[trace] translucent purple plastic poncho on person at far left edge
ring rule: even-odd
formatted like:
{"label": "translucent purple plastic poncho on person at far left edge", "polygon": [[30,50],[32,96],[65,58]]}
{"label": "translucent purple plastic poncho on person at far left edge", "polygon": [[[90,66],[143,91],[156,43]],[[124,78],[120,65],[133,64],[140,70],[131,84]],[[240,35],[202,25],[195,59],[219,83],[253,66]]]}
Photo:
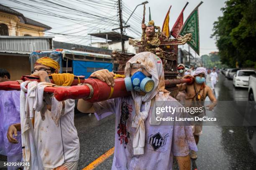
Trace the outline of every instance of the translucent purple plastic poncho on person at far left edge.
{"label": "translucent purple plastic poncho on person at far left edge", "polygon": [[20,91],[0,90],[0,154],[13,156],[22,154],[21,134],[15,137],[18,144],[9,143],[6,135],[10,125],[20,122]]}

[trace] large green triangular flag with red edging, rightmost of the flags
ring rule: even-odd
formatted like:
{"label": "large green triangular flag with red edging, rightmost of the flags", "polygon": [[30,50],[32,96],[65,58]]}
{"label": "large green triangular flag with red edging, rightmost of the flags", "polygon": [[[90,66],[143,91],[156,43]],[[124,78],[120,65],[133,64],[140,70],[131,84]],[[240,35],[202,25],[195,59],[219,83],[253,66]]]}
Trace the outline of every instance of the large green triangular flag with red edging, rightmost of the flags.
{"label": "large green triangular flag with red edging, rightmost of the flags", "polygon": [[179,35],[184,36],[185,34],[191,33],[192,38],[187,44],[195,50],[195,52],[199,55],[199,20],[198,20],[198,7],[202,4],[201,1],[199,5],[192,11],[192,13],[187,18],[186,22],[183,24]]}

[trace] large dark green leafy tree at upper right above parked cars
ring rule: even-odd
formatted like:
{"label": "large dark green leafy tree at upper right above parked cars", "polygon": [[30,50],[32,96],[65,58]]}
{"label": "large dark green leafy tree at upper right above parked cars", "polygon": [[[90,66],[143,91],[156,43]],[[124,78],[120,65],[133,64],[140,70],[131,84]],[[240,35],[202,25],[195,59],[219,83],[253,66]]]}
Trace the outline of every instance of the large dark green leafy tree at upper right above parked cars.
{"label": "large dark green leafy tree at upper right above parked cars", "polygon": [[255,9],[256,0],[228,0],[221,8],[223,16],[213,24],[211,37],[216,39],[223,64],[235,67],[238,62],[242,67],[256,63]]}

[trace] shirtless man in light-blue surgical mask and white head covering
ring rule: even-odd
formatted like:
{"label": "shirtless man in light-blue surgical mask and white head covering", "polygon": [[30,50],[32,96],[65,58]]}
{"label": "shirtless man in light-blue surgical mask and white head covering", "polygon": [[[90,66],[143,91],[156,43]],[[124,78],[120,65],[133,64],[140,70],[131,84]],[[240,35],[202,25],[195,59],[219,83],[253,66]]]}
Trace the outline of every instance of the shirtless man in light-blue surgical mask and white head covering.
{"label": "shirtless man in light-blue surgical mask and white head covering", "polygon": [[[192,77],[191,75],[185,75],[183,78]],[[207,105],[208,110],[213,110],[215,105],[217,105],[217,100],[212,93],[212,90],[209,86],[205,85],[205,77],[206,77],[206,70],[204,67],[198,67],[195,70],[193,75],[195,81],[189,85],[187,83],[177,85],[179,87],[179,91],[185,90],[186,92],[186,103],[196,103],[197,101],[201,101],[202,104],[205,101],[205,98],[208,96],[212,101],[212,104]],[[200,106],[198,106],[200,107]],[[196,144],[199,142],[199,136],[202,135],[202,125],[193,126],[193,135],[195,138]],[[190,157],[192,159],[197,158],[197,154],[195,151],[191,151]]]}

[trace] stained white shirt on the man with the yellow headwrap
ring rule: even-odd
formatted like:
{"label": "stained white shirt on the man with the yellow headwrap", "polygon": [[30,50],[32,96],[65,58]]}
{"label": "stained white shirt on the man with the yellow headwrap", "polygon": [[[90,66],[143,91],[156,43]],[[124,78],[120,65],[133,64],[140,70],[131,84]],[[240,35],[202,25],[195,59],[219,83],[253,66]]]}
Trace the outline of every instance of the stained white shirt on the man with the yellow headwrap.
{"label": "stained white shirt on the man with the yellow headwrap", "polygon": [[58,125],[47,110],[42,120],[35,112],[35,137],[45,168],[56,168],[79,159],[79,138],[74,126],[74,100],[65,100]]}

